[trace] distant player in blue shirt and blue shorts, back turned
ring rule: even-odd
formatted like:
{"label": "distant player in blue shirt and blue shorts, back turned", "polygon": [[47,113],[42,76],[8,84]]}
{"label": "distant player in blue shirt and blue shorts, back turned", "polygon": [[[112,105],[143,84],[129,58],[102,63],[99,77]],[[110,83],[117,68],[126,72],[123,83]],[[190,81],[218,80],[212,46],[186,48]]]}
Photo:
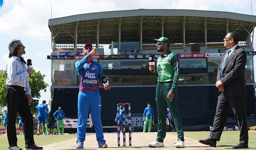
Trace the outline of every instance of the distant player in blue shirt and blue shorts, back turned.
{"label": "distant player in blue shirt and blue shorts, back turned", "polygon": [[38,115],[37,115],[37,123],[38,123],[38,125],[37,125],[37,135],[39,136],[40,135],[40,125],[41,125],[41,123],[43,123],[43,125],[42,126],[44,126],[44,130],[43,130],[43,135],[46,135],[45,134],[45,111],[49,111],[49,109],[48,109],[48,104],[46,104],[45,105],[45,103],[46,103],[46,101],[45,100],[43,100],[42,101],[42,104],[38,104],[37,105],[37,111],[38,111]]}

